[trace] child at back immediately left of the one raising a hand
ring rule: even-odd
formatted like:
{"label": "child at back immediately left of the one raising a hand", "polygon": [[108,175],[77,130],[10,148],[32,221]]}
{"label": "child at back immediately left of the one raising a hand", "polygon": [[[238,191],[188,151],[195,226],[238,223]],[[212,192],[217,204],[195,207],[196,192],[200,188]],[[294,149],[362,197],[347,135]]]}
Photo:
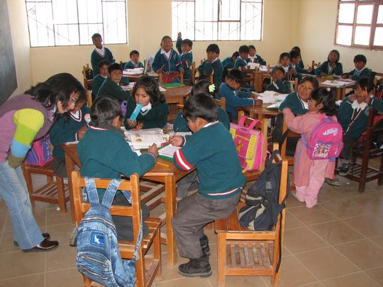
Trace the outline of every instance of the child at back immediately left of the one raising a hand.
{"label": "child at back immediately left of the one raising a hand", "polygon": [[182,60],[174,49],[170,36],[164,36],[161,40],[161,49],[155,54],[152,70],[157,74],[170,72],[184,72]]}

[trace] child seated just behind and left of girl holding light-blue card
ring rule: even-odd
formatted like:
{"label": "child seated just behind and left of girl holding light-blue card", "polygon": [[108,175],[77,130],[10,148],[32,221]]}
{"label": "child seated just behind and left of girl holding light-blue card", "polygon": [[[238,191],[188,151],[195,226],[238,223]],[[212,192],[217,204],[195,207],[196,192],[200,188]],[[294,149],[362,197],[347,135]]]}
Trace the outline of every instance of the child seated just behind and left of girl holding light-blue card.
{"label": "child seated just behind and left of girl holding light-blue card", "polygon": [[131,97],[129,91],[124,91],[119,85],[122,79],[122,69],[120,64],[114,63],[108,67],[108,77],[102,83],[96,98],[99,96],[113,96],[118,101],[128,100]]}

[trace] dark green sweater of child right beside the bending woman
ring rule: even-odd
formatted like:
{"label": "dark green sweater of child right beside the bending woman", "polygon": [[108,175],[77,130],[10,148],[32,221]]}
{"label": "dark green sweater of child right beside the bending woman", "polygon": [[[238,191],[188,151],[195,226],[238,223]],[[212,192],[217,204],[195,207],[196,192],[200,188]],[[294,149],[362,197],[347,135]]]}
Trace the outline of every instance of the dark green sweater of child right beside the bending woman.
{"label": "dark green sweater of child right beside the bending woman", "polygon": [[67,113],[67,115],[62,115],[57,118],[49,131],[50,142],[53,145],[53,157],[63,159],[65,152],[60,145],[65,142],[79,140],[77,132],[84,125],[89,126],[90,120],[90,108],[87,106],[83,106],[79,110],[79,118],[75,118],[72,113]]}

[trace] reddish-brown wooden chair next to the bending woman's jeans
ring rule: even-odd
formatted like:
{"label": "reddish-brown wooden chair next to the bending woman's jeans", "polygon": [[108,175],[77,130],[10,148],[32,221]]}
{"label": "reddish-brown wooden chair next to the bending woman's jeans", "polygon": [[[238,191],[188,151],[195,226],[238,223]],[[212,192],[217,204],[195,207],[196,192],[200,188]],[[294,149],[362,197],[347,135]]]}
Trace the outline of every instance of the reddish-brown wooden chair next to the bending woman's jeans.
{"label": "reddish-brown wooden chair next to the bending woman's jeans", "polygon": [[[37,167],[23,162],[22,167],[32,205],[34,206],[35,201],[58,204],[60,212],[66,213],[67,201],[70,200],[69,189],[67,184],[64,184],[62,177],[57,176],[55,171],[53,171],[52,162],[48,162],[43,165],[43,167]],[[32,174],[43,174],[47,176],[47,183],[34,191]],[[53,181],[54,177],[56,178],[55,181]]]}

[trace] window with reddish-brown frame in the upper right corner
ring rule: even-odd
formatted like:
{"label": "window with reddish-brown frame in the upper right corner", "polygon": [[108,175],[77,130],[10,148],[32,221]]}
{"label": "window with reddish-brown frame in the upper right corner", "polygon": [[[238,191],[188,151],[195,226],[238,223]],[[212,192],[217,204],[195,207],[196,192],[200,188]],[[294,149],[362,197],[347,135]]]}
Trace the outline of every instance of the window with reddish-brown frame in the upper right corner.
{"label": "window with reddish-brown frame in the upper right corner", "polygon": [[383,0],[340,0],[335,44],[383,50]]}

